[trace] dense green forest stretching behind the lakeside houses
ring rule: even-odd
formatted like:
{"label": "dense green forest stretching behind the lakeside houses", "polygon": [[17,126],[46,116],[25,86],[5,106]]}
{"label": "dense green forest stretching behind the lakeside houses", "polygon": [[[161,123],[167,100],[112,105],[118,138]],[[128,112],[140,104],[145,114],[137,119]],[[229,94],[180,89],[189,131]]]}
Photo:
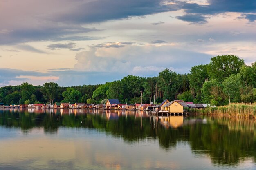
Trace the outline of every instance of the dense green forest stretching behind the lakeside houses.
{"label": "dense green forest stretching behind the lakeside houses", "polygon": [[34,86],[27,82],[0,88],[0,103],[105,103],[119,99],[124,104],[161,103],[164,99],[210,103],[256,101],[256,62],[245,65],[235,55],[212,57],[209,64],[193,66],[188,74],[165,69],[155,77],[128,75],[105,84],[60,87],[55,82]]}

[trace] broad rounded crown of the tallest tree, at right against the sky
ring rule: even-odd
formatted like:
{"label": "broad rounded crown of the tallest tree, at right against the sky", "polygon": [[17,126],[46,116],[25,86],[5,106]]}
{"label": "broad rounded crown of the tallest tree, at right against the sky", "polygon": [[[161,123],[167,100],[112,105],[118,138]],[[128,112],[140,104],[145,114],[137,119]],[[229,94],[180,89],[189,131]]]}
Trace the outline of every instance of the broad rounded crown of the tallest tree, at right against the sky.
{"label": "broad rounded crown of the tallest tree, at right against the sky", "polygon": [[223,82],[223,80],[231,74],[239,73],[240,68],[244,64],[244,60],[235,55],[216,56],[211,58],[210,64],[207,67],[207,72],[211,79]]}

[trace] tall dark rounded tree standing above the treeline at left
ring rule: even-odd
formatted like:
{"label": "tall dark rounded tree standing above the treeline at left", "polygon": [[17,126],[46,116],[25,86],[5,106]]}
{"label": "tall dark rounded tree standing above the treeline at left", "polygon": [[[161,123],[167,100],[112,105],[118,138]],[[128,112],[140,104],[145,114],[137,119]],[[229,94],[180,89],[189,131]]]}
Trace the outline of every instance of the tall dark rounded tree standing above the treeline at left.
{"label": "tall dark rounded tree standing above the treeline at left", "polygon": [[60,96],[60,87],[54,82],[45,83],[41,88],[41,91],[45,99],[52,104],[53,101]]}

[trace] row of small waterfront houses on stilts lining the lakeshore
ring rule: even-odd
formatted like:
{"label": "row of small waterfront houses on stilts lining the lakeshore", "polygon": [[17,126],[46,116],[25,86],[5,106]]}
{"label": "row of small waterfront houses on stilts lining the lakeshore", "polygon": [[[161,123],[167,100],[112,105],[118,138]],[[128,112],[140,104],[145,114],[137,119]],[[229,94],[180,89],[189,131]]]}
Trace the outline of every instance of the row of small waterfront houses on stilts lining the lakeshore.
{"label": "row of small waterfront houses on stilts lining the lakeshore", "polygon": [[4,105],[0,103],[0,108],[27,108],[27,109],[99,109],[99,110],[139,110],[148,111],[152,115],[162,115],[177,114],[182,115],[183,113],[188,113],[188,108],[193,109],[205,109],[207,107],[215,107],[210,104],[194,104],[193,102],[186,102],[183,100],[164,100],[161,104],[121,104],[118,99],[107,99],[105,104],[86,104],[86,103],[60,103],[56,102],[54,104],[20,104],[20,105]]}

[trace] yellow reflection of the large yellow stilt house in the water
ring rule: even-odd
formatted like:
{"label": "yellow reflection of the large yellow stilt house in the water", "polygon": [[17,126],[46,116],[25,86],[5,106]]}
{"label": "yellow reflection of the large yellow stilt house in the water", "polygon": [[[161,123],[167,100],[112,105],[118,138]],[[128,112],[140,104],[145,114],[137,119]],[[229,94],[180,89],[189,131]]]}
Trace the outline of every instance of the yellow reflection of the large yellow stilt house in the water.
{"label": "yellow reflection of the large yellow stilt house in the water", "polygon": [[183,125],[183,116],[159,116],[158,118],[165,128],[177,128]]}

